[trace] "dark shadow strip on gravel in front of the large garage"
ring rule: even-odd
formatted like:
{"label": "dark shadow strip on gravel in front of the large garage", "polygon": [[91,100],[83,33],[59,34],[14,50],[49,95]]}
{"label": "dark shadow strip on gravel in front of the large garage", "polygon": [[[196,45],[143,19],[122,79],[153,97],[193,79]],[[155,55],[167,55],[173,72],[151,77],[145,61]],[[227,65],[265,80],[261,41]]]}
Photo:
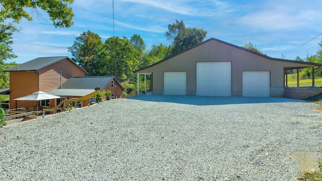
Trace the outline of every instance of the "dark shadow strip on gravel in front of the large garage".
{"label": "dark shadow strip on gravel in front of the large garage", "polygon": [[178,103],[197,106],[230,105],[230,104],[256,104],[256,103],[305,103],[303,100],[287,98],[261,98],[261,97],[207,97],[207,96],[150,96],[139,95],[127,99]]}

